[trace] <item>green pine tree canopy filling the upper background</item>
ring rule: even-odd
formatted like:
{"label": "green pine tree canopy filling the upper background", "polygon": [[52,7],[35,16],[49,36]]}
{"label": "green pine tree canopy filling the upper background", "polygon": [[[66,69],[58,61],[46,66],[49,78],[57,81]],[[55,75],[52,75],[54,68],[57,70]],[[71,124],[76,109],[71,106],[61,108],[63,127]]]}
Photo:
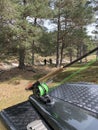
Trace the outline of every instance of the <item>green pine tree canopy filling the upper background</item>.
{"label": "green pine tree canopy filling the upper background", "polygon": [[[35,54],[56,55],[56,66],[65,56],[81,56],[91,43],[86,26],[92,22],[87,0],[1,0],[0,53],[17,55],[19,68]],[[48,20],[57,27],[49,32]]]}

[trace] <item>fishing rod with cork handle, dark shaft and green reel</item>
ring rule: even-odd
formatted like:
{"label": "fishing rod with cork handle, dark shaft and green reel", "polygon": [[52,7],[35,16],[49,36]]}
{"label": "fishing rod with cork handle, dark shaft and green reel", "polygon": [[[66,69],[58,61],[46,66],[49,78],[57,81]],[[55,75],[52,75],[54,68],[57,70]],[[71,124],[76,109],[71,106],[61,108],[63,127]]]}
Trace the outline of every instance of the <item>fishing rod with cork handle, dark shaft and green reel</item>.
{"label": "fishing rod with cork handle, dark shaft and green reel", "polygon": [[49,74],[43,76],[42,78],[38,79],[36,82],[29,84],[25,89],[26,90],[32,90],[33,94],[42,97],[44,95],[48,94],[48,86],[46,85],[46,81],[49,79],[52,79],[56,75],[58,75],[60,72],[62,72],[65,68],[73,65],[74,63],[82,60],[83,58],[87,57],[88,55],[92,54],[93,52],[97,51],[98,47],[94,48],[93,50],[89,51],[88,53],[84,54],[83,56],[73,60],[71,63],[64,65],[63,67],[50,72]]}

